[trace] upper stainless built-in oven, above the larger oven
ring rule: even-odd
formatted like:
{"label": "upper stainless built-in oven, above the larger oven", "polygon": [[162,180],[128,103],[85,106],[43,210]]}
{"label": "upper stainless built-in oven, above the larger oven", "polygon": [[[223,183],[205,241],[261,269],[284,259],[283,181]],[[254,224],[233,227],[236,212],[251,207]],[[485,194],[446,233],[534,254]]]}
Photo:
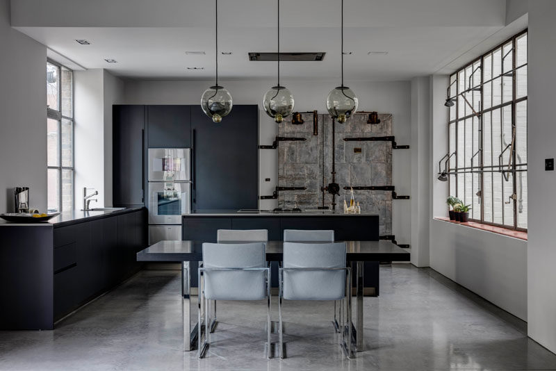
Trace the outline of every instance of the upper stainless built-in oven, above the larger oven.
{"label": "upper stainless built-in oven, above the larger oven", "polygon": [[149,148],[148,181],[190,181],[189,148]]}

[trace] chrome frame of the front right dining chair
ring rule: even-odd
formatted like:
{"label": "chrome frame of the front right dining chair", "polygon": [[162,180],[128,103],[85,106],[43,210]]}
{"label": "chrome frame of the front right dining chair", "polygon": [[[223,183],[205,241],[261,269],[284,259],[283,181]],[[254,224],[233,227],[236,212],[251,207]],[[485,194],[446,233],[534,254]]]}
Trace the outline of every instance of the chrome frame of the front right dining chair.
{"label": "chrome frame of the front right dining chair", "polygon": [[[341,333],[341,346],[345,356],[348,359],[351,359],[355,356],[355,353],[352,352],[352,295],[351,295],[351,268],[317,268],[317,267],[306,267],[306,268],[284,268],[280,267],[278,270],[278,281],[279,281],[279,294],[278,294],[278,316],[279,316],[279,324],[278,324],[278,343],[279,343],[279,352],[280,358],[284,359],[284,324],[282,322],[282,298],[284,297],[284,271],[334,271],[334,270],[345,270],[345,297],[341,300],[334,300],[334,327],[336,327],[336,302],[340,303],[340,327],[341,329],[338,332]],[[343,303],[342,303],[343,302]],[[345,304],[345,308],[342,310],[342,307]],[[345,311],[345,323],[343,323],[343,311]],[[346,339],[347,336],[347,339]]]}

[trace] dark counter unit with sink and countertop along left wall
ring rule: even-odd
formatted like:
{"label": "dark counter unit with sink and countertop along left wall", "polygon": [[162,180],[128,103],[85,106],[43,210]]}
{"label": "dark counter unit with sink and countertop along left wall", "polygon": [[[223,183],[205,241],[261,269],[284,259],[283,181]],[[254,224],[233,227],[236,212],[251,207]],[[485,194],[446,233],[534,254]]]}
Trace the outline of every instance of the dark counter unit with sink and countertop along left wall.
{"label": "dark counter unit with sink and countertop along left wall", "polygon": [[0,240],[0,329],[53,329],[56,320],[140,269],[135,254],[147,247],[147,210],[0,222]]}

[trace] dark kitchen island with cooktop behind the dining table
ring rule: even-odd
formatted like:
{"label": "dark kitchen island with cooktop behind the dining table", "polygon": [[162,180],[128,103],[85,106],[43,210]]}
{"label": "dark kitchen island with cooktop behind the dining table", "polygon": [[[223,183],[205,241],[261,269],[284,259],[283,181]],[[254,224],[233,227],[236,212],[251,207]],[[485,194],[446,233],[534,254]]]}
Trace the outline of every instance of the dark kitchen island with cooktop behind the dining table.
{"label": "dark kitchen island with cooktop behind the dining table", "polygon": [[[200,210],[182,215],[182,239],[216,242],[218,229],[267,229],[268,240],[282,240],[284,229],[333,229],[334,239],[379,240],[379,215],[344,214],[327,210],[258,211],[258,210]],[[272,286],[277,287],[278,263],[273,262]],[[196,270],[196,262],[192,262]],[[379,295],[379,262],[364,263],[366,295]],[[193,275],[192,286],[197,287]]]}

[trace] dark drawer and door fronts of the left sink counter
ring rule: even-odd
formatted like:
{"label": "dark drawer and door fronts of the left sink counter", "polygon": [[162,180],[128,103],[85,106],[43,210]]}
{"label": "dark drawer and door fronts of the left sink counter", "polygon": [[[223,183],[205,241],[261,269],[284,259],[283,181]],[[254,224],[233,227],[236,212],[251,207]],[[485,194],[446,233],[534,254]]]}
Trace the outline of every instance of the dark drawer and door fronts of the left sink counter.
{"label": "dark drawer and door fronts of the left sink counter", "polygon": [[54,227],[54,320],[140,269],[147,247],[145,209]]}

